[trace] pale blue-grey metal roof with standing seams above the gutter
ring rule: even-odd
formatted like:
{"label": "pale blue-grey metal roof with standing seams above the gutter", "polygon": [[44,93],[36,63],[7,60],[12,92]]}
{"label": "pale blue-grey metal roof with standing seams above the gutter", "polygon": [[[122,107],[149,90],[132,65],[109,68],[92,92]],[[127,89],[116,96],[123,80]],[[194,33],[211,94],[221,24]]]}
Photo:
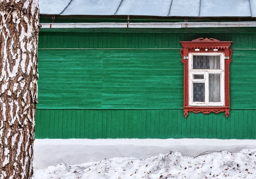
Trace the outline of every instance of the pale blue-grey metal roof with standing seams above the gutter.
{"label": "pale blue-grey metal roof with standing seams above the gutter", "polygon": [[41,14],[256,17],[256,0],[39,0]]}

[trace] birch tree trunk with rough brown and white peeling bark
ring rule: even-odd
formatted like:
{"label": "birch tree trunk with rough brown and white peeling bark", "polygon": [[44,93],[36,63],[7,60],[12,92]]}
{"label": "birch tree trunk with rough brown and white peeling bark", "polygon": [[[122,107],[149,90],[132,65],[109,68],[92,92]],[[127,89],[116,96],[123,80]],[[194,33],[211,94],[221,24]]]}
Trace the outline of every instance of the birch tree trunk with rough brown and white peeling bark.
{"label": "birch tree trunk with rough brown and white peeling bark", "polygon": [[0,0],[0,179],[31,179],[38,0]]}

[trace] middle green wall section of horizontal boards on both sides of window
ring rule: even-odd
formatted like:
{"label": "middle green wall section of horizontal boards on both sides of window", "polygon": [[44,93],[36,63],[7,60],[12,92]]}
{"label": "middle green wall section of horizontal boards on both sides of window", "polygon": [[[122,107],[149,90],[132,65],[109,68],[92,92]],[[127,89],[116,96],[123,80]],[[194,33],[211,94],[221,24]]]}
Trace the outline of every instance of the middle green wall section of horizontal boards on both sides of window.
{"label": "middle green wall section of horizontal boards on both sides of window", "polygon": [[[40,109],[182,109],[183,64],[175,49],[38,52]],[[231,109],[256,109],[256,50],[233,50]]]}

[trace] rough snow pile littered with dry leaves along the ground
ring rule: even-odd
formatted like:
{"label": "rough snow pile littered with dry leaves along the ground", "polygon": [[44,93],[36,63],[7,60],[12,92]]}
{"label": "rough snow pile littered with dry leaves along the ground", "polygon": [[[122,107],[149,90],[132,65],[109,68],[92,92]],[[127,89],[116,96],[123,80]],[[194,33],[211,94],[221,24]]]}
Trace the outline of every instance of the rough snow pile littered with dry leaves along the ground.
{"label": "rough snow pile littered with dry leaves along the ground", "polygon": [[34,179],[254,179],[256,149],[203,153],[188,157],[179,152],[145,159],[116,157],[80,165],[62,163],[35,170]]}

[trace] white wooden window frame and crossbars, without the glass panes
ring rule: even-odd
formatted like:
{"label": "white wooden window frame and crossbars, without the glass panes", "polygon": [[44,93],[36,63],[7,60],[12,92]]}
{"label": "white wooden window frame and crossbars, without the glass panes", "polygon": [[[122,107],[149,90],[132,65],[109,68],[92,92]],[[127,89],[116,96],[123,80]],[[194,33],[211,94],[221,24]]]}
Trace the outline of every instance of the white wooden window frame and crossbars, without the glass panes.
{"label": "white wooden window frame and crossbars, without the glass panes", "polygon": [[[192,56],[193,55],[219,55],[221,61],[221,69],[192,69]],[[224,66],[224,53],[189,53],[189,106],[224,106],[225,105],[225,66]],[[209,102],[209,73],[215,73],[221,75],[221,102]],[[193,74],[204,74],[204,79],[193,79]],[[205,83],[205,102],[193,102],[193,82],[204,82]]]}

